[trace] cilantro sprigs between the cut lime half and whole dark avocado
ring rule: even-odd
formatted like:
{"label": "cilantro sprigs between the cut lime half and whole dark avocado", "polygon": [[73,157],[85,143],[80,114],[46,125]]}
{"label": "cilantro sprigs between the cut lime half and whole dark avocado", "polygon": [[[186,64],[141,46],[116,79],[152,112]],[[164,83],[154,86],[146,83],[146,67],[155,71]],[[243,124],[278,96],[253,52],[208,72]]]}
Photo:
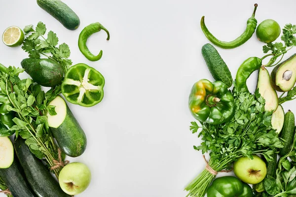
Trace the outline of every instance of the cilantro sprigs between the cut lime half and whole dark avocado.
{"label": "cilantro sprigs between the cut lime half and whole dark avocado", "polygon": [[[36,29],[33,25],[28,25],[24,28],[25,34],[31,33],[23,42],[22,49],[29,53],[30,58],[38,59],[40,54],[47,58],[56,61],[66,73],[72,65],[70,57],[70,49],[66,43],[60,44],[57,47],[59,38],[56,33],[49,31],[47,38],[43,35],[46,32],[46,27],[42,22],[38,22]],[[41,38],[41,39],[40,39]],[[49,55],[51,54],[51,56]]]}

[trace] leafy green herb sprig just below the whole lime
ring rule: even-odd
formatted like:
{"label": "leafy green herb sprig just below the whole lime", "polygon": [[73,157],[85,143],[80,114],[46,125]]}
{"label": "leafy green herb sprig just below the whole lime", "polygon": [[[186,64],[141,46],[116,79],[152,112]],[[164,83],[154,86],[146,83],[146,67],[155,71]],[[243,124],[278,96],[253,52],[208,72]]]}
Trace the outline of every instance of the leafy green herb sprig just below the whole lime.
{"label": "leafy green herb sprig just below the whole lime", "polygon": [[[281,36],[281,40],[284,42],[275,42],[275,43],[267,43],[263,46],[263,53],[268,53],[271,51],[270,54],[265,55],[262,60],[268,56],[273,56],[270,61],[265,65],[265,67],[275,66],[280,63],[284,57],[284,54],[287,53],[290,49],[296,46],[296,25],[292,25],[291,23],[286,24],[283,29],[283,35]],[[281,59],[275,63],[278,57]],[[275,63],[275,64],[274,64]]]}

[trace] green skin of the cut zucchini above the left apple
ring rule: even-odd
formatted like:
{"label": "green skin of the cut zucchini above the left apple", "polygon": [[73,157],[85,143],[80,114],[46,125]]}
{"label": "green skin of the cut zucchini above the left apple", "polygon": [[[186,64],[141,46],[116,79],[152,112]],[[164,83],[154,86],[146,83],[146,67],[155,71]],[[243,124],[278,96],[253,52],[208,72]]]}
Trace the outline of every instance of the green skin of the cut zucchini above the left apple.
{"label": "green skin of the cut zucchini above the left apple", "polygon": [[50,127],[50,131],[66,155],[78,157],[85,151],[87,139],[66,101],[65,104],[67,106],[67,114],[64,122],[58,128]]}

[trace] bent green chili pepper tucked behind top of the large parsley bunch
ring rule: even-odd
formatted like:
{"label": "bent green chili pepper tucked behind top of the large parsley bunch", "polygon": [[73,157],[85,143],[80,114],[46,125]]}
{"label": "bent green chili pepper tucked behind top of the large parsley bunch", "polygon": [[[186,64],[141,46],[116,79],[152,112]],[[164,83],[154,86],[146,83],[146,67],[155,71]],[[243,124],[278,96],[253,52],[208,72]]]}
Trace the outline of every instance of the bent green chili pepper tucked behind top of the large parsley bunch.
{"label": "bent green chili pepper tucked behind top of the large parsley bunch", "polygon": [[248,58],[239,66],[236,73],[236,86],[240,92],[249,92],[247,87],[247,79],[250,75],[262,66],[262,60],[257,57]]}

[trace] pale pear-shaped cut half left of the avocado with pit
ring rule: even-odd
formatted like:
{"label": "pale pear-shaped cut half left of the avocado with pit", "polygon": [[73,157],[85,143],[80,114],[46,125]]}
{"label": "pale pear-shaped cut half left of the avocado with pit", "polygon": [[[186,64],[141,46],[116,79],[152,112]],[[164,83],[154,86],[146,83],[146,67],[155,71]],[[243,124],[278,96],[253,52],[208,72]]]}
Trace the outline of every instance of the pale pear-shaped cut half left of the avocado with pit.
{"label": "pale pear-shaped cut half left of the avocado with pit", "polygon": [[278,97],[270,84],[269,72],[263,66],[259,69],[257,88],[260,95],[265,99],[265,111],[275,111],[278,107]]}

